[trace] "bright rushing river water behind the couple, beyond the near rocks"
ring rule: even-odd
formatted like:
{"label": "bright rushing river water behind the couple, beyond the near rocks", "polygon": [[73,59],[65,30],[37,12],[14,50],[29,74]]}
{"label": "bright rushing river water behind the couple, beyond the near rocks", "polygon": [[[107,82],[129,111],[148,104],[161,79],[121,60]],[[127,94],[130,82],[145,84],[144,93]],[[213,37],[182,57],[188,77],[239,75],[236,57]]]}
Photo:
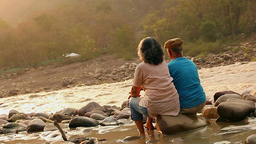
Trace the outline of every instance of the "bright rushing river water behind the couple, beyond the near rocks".
{"label": "bright rushing river water behind the couple, beyond the near rocks", "polygon": [[[238,62],[227,66],[204,68],[198,70],[198,73],[208,99],[216,92],[224,90],[242,93],[256,89],[256,62]],[[67,107],[78,109],[92,101],[102,106],[121,106],[122,102],[127,100],[131,86],[132,80],[128,80],[2,98],[0,114],[8,114],[13,109],[24,113],[55,113]],[[144,92],[141,95],[143,96]]]}

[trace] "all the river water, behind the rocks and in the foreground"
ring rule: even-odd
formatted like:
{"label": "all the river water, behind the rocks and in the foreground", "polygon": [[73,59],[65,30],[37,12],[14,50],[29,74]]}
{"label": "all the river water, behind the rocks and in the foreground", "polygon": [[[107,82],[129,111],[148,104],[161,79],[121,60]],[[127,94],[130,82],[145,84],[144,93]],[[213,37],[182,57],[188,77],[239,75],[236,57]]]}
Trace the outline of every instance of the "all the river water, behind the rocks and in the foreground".
{"label": "all the river water, behind the rocks and in the foreground", "polygon": [[[242,93],[246,90],[256,89],[256,62],[240,62],[233,65],[205,68],[198,70],[201,84],[206,92],[207,99],[212,99],[216,92],[232,90]],[[132,80],[112,84],[74,87],[53,92],[40,92],[37,94],[24,94],[0,99],[0,114],[8,114],[10,110],[19,112],[45,112],[55,113],[67,107],[81,108],[89,102],[98,102],[103,105],[121,106],[127,100],[132,86]],[[143,96],[143,92],[141,93]],[[136,126],[131,124],[106,127],[100,132],[98,127],[90,132],[77,133],[76,130],[67,129],[69,139],[76,137],[106,138],[99,142],[102,144],[169,144],[174,138],[182,138],[178,144],[243,144],[248,136],[256,133],[256,119],[248,118],[241,122],[217,124],[209,120],[210,125],[197,130],[172,135],[157,134],[156,130],[146,130],[146,137],[129,142],[121,142],[126,136],[138,136]],[[42,132],[28,134],[0,135],[0,144],[43,144],[47,138],[41,136]],[[56,139],[61,139],[58,137]],[[174,142],[177,143],[177,142]]]}

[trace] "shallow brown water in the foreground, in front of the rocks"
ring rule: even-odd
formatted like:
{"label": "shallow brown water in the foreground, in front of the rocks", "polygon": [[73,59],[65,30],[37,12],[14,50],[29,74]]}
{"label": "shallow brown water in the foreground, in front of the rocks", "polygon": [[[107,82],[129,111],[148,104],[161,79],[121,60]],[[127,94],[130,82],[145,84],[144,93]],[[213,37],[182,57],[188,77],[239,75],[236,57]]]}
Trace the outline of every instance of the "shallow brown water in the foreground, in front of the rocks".
{"label": "shallow brown water in the foreground, in front of the rocks", "polygon": [[[210,125],[197,130],[182,132],[179,134],[162,135],[157,134],[156,130],[146,130],[146,137],[127,142],[121,142],[126,136],[138,136],[138,131],[134,125],[116,126],[108,129],[109,132],[99,133],[101,128],[92,128],[90,132],[77,133],[76,130],[65,129],[68,132],[68,139],[78,137],[96,137],[107,140],[99,142],[99,144],[170,144],[172,141],[178,144],[243,144],[246,138],[256,133],[254,129],[246,129],[255,127],[256,123],[247,124],[246,122],[234,122],[225,125],[218,125],[215,120],[209,120]],[[235,129],[234,127],[237,126]],[[99,126],[100,127],[100,126]],[[54,138],[52,138],[54,139]],[[55,138],[60,140],[61,137]],[[180,140],[184,140],[180,142]],[[48,139],[50,140],[50,139]],[[40,136],[40,133],[1,135],[0,142],[4,144],[42,144],[45,138]],[[0,143],[1,144],[1,143]]]}

